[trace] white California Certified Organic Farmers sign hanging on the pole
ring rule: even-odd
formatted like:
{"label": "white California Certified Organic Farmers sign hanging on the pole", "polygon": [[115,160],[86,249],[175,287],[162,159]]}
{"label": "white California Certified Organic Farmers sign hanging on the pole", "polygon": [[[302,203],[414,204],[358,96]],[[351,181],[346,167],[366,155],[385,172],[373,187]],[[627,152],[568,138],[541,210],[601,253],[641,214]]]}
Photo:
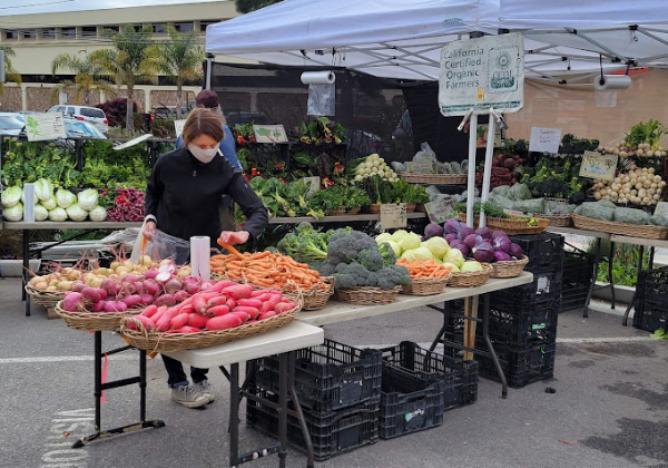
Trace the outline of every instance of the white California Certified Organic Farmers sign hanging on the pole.
{"label": "white California Certified Organic Farmers sign hanging on the pole", "polygon": [[517,113],[524,104],[524,41],[519,33],[449,42],[441,49],[439,107],[444,116],[471,108]]}

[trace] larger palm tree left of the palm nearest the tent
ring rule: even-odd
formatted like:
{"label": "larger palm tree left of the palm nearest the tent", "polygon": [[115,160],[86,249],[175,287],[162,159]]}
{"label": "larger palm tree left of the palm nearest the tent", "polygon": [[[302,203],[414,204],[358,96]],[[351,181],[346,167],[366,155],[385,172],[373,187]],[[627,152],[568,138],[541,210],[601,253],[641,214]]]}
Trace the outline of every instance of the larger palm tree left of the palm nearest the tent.
{"label": "larger palm tree left of the palm nearest the tent", "polygon": [[159,47],[151,39],[150,25],[144,25],[140,30],[136,30],[132,25],[126,25],[120,32],[105,32],[110,36],[114,48],[96,50],[90,53],[90,59],[105,74],[112,76],[117,85],[127,87],[126,128],[134,130],[135,85],[141,81],[157,81]]}

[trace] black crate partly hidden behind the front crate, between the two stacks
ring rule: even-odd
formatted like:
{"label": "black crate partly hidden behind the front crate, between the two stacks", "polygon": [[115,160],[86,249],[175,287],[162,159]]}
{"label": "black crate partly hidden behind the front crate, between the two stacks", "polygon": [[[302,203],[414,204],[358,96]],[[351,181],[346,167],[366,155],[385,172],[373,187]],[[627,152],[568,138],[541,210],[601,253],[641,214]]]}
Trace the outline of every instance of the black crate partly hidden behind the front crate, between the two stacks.
{"label": "black crate partly hidden behind the front crate, between the two stacks", "polygon": [[478,400],[478,362],[429,351],[412,341],[402,341],[382,351],[383,360],[392,367],[442,380],[443,409]]}

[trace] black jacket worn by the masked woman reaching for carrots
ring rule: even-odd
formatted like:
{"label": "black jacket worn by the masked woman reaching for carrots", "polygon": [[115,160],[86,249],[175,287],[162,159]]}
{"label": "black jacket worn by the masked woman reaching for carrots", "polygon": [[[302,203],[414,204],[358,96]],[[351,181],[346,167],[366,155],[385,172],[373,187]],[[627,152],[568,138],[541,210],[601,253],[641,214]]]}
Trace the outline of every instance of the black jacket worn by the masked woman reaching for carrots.
{"label": "black jacket worn by the masked woman reaching for carrots", "polygon": [[268,223],[267,208],[242,173],[220,156],[203,164],[187,148],[161,155],[148,178],[145,211],[169,235],[186,241],[208,235],[215,245],[222,231],[218,205],[223,195],[242,207],[248,218],[244,231],[257,237]]}

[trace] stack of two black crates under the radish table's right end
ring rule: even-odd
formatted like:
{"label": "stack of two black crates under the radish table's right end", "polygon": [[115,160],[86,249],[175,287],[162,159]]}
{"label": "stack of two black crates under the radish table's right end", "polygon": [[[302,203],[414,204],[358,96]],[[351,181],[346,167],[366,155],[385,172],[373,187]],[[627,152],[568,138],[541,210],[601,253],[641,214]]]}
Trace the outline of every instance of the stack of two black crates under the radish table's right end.
{"label": "stack of two black crates under the radish table's right end", "polygon": [[[278,357],[252,361],[250,393],[278,401]],[[332,340],[296,351],[295,389],[313,442],[316,460],[353,450],[379,438],[382,353]],[[294,409],[292,402],[289,408]],[[247,423],[271,436],[278,433],[278,416],[268,404],[247,399]],[[287,436],[297,449],[306,441],[298,420],[288,415]]]}

